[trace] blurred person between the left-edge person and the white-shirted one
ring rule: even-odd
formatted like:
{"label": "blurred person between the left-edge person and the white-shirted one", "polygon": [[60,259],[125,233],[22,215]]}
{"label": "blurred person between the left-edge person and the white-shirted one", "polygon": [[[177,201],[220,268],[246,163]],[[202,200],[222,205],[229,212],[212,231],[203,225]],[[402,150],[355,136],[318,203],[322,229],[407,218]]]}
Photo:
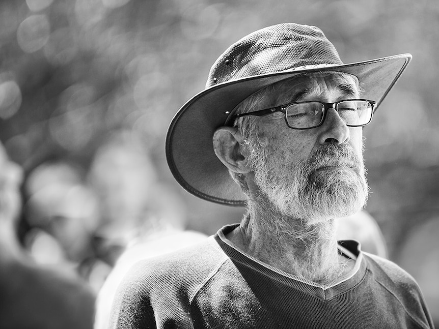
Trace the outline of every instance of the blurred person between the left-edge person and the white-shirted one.
{"label": "blurred person between the left-edge person and the white-shirted one", "polygon": [[45,161],[24,182],[23,244],[39,264],[79,275],[97,292],[114,263],[97,248],[100,204],[79,165]]}

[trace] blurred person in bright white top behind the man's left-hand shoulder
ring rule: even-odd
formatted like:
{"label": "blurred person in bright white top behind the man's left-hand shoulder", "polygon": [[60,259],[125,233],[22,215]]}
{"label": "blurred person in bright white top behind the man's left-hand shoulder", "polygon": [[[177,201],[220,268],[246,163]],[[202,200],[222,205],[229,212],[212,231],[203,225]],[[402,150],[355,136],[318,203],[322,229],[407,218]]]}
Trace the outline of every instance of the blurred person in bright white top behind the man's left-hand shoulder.
{"label": "blurred person in bright white top behind the man's left-hand shoulder", "polygon": [[94,328],[106,329],[117,288],[134,263],[193,245],[206,235],[186,230],[184,204],[156,181],[153,164],[132,132],[107,138],[88,176],[101,206],[98,254],[115,265],[96,300]]}

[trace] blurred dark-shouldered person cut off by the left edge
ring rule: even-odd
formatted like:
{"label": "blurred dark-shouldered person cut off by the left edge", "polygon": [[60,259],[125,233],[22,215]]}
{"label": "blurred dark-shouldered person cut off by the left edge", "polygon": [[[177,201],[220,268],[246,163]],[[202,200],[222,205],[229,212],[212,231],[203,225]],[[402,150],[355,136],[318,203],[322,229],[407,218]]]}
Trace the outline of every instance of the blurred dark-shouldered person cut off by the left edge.
{"label": "blurred dark-shouldered person cut off by the left edge", "polygon": [[0,149],[0,328],[87,329],[95,294],[78,276],[37,264],[17,239],[22,171]]}

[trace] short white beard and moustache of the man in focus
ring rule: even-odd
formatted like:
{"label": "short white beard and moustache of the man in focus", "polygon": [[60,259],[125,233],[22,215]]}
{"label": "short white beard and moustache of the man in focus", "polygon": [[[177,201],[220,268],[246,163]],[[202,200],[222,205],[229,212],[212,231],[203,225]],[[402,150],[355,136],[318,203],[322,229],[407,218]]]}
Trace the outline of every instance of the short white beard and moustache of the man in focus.
{"label": "short white beard and moustache of the man in focus", "polygon": [[[276,157],[266,154],[256,138],[248,140],[248,146],[255,184],[283,216],[312,225],[359,212],[366,203],[368,186],[363,156],[346,144],[322,146],[295,167],[275,163]],[[332,167],[318,170],[327,166]],[[256,201],[255,197],[250,196],[250,200]]]}

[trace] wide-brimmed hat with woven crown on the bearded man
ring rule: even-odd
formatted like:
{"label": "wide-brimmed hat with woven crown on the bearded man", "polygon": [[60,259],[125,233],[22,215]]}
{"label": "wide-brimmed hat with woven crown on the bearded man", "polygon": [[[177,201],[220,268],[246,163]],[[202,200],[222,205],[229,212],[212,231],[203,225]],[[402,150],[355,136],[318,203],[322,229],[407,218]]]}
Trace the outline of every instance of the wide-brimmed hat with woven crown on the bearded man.
{"label": "wide-brimmed hat with woven crown on the bearded man", "polygon": [[410,54],[343,64],[334,45],[315,26],[294,23],[262,28],[230,46],[213,64],[206,88],[188,100],[168,129],[166,157],[177,182],[205,200],[244,205],[245,195],[218,160],[214,131],[242,100],[270,84],[306,72],[356,76],[361,97],[386,97],[411,59]]}

